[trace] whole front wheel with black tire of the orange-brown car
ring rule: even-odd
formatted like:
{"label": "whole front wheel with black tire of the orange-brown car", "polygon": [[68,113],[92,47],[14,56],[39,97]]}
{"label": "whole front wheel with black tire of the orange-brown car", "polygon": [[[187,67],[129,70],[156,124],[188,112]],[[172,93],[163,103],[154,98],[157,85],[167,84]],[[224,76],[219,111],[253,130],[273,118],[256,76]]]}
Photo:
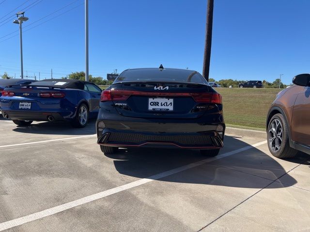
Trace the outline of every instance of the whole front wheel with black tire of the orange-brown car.
{"label": "whole front wheel with black tire of the orange-brown car", "polygon": [[268,123],[267,143],[270,153],[280,159],[293,158],[298,152],[290,147],[288,125],[281,114],[274,115]]}

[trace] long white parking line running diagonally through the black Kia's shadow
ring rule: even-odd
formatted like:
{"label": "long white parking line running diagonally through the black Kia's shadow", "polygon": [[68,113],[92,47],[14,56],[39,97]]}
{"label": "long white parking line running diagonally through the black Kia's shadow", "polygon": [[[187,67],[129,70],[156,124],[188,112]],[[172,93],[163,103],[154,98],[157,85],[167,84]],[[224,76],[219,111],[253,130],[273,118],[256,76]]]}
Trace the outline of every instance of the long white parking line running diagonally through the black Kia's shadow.
{"label": "long white parking line running diagonally through the black Kia's shadow", "polygon": [[13,219],[13,220],[10,220],[10,221],[2,222],[2,223],[0,223],[0,231],[4,231],[4,230],[10,229],[10,228],[13,228],[13,227],[25,224],[27,222],[31,222],[31,221],[34,221],[34,220],[37,220],[37,219],[40,219],[40,218],[43,218],[43,217],[47,217],[47,216],[50,216],[50,215],[53,215],[53,214],[57,214],[57,213],[62,212],[64,210],[74,208],[74,207],[76,207],[78,205],[89,203],[89,202],[92,202],[92,201],[95,201],[95,200],[107,197],[107,196],[112,195],[114,193],[118,193],[118,192],[124,191],[126,189],[130,189],[130,188],[134,188],[134,187],[146,184],[148,182],[151,182],[153,180],[158,180],[160,178],[163,178],[163,177],[166,177],[166,176],[169,176],[169,175],[172,175],[172,174],[176,174],[176,173],[185,171],[185,170],[190,169],[190,168],[194,168],[194,167],[200,166],[202,164],[205,164],[206,162],[211,162],[213,160],[218,160],[218,159],[221,159],[221,158],[225,158],[225,157],[231,156],[233,154],[236,154],[236,153],[239,153],[239,152],[242,152],[242,151],[246,151],[248,149],[251,149],[253,147],[257,147],[257,146],[260,146],[260,145],[263,145],[263,144],[266,144],[266,143],[267,143],[267,141],[263,141],[263,142],[260,142],[260,143],[254,144],[254,145],[249,145],[249,146],[246,146],[246,147],[242,147],[240,149],[237,149],[237,150],[234,150],[234,151],[231,151],[231,152],[227,152],[227,153],[218,155],[216,157],[212,157],[212,158],[205,159],[205,160],[202,160],[202,161],[190,163],[190,164],[187,164],[187,165],[179,167],[179,168],[171,169],[171,170],[163,172],[163,173],[152,175],[152,176],[150,176],[148,178],[140,179],[140,180],[137,180],[137,181],[134,181],[134,182],[131,182],[131,183],[128,183],[128,184],[116,187],[116,188],[111,188],[111,189],[108,189],[108,190],[105,190],[105,191],[102,191],[102,192],[98,192],[98,193],[95,193],[93,195],[90,195],[90,196],[87,196],[87,197],[83,197],[83,198],[80,198],[80,199],[72,201],[72,202],[64,203],[64,204],[61,204],[61,205],[58,205],[58,206],[55,206],[55,207],[52,207],[52,208],[49,208],[49,209],[46,209],[46,210],[42,210],[42,211],[37,212],[37,213],[33,213],[33,214],[30,214],[30,215],[27,215],[27,216],[24,216],[24,217],[18,217],[16,219]]}

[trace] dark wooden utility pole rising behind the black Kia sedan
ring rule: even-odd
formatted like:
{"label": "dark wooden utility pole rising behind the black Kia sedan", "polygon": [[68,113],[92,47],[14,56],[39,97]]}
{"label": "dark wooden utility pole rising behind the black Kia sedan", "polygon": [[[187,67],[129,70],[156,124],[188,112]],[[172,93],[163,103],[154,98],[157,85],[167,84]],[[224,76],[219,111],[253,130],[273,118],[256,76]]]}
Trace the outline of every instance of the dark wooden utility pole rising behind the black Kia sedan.
{"label": "dark wooden utility pole rising behind the black Kia sedan", "polygon": [[202,75],[209,81],[214,0],[208,0]]}

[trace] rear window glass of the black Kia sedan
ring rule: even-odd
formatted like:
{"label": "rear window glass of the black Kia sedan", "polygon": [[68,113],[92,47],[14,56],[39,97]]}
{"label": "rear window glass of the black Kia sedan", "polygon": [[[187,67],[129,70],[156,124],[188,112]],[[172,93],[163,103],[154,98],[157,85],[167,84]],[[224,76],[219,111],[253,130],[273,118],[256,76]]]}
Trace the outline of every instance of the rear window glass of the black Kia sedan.
{"label": "rear window glass of the black Kia sedan", "polygon": [[179,69],[131,69],[121,73],[114,81],[119,82],[143,82],[143,81],[164,81],[164,82],[191,82],[207,85],[208,82],[203,76],[191,70]]}

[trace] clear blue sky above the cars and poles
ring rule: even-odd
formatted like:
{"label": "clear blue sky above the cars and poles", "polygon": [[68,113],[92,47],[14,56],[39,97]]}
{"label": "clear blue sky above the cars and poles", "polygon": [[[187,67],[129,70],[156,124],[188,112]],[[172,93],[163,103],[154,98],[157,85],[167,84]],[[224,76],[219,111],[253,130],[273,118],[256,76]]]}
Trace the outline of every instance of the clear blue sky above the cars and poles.
{"label": "clear blue sky above the cars and poles", "polygon": [[[289,84],[294,75],[309,73],[309,0],[214,1],[210,77],[273,81],[284,74],[282,80]],[[10,16],[25,7],[25,74],[50,78],[53,69],[56,78],[84,71],[83,2],[0,4],[0,74],[20,73],[18,25]],[[89,0],[90,74],[106,77],[114,69],[161,63],[202,73],[205,17],[206,0]]]}

